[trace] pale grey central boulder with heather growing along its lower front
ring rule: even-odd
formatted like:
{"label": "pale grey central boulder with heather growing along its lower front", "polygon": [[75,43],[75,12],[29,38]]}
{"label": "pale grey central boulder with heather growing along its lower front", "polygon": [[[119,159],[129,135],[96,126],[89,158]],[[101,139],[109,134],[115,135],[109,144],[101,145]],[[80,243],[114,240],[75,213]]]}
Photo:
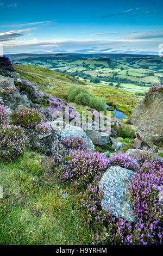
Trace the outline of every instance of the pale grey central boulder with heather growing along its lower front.
{"label": "pale grey central boulder with heather growing along its lower front", "polygon": [[81,127],[69,125],[64,121],[58,120],[48,121],[47,123],[52,126],[52,134],[54,134],[55,136],[57,135],[58,139],[62,140],[65,138],[70,138],[72,136],[80,137],[85,140],[87,148],[89,148],[90,150],[93,150],[95,148],[95,145],[93,145],[93,142],[86,135]]}

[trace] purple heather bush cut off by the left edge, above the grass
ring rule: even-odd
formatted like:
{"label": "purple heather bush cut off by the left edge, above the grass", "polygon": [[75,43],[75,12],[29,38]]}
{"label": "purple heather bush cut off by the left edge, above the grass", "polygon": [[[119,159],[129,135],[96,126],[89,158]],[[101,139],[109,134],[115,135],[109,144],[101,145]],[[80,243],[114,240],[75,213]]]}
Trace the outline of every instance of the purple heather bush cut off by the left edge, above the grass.
{"label": "purple heather bush cut off by the left edge, above the grass", "polygon": [[20,126],[3,124],[0,126],[0,159],[15,160],[26,151],[27,137]]}

